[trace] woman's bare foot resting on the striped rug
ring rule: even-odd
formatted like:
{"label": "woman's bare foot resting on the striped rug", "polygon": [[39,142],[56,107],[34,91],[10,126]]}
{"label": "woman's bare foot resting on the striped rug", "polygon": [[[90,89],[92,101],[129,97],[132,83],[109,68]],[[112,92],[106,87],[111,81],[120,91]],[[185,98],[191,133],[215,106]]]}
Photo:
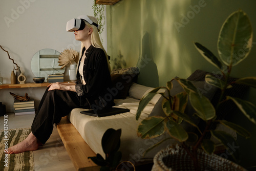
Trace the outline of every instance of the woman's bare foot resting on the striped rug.
{"label": "woman's bare foot resting on the striped rug", "polygon": [[17,154],[17,153],[23,153],[27,151],[35,151],[40,145],[42,144],[37,140],[37,138],[31,132],[24,141],[12,147],[9,147],[6,153]]}

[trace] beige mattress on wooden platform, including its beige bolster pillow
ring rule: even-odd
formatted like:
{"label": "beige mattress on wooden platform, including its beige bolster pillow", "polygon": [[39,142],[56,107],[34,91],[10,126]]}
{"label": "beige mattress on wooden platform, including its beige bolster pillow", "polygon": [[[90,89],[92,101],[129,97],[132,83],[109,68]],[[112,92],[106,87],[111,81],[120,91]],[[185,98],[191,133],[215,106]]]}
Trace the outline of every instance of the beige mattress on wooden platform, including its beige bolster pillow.
{"label": "beige mattress on wooden platform, including its beige bolster pillow", "polygon": [[84,141],[87,142],[96,154],[99,153],[103,157],[105,156],[101,147],[101,138],[106,130],[113,128],[115,130],[121,129],[122,131],[119,151],[122,152],[123,160],[130,159],[141,161],[152,159],[155,154],[160,151],[160,149],[165,148],[167,144],[162,144],[161,146],[154,148],[143,158],[144,151],[156,142],[162,140],[165,136],[143,140],[137,136],[137,127],[141,119],[147,118],[151,113],[154,104],[160,96],[155,97],[155,99],[146,106],[138,121],[135,118],[140,101],[139,99],[150,90],[152,90],[152,88],[134,83],[129,91],[132,97],[129,96],[126,99],[115,99],[114,102],[118,108],[127,108],[130,109],[130,112],[98,118],[81,114],[80,111],[85,111],[84,109],[74,109],[71,111],[69,119]]}

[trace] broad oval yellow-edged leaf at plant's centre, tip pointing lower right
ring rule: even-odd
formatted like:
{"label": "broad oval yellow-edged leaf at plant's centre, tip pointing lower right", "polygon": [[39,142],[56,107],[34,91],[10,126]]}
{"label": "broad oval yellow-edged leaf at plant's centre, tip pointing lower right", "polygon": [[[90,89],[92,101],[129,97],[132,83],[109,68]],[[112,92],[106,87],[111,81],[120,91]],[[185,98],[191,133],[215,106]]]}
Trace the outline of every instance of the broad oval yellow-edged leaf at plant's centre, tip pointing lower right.
{"label": "broad oval yellow-edged leaf at plant's centre, tip pointing lower right", "polygon": [[196,114],[203,120],[210,120],[216,116],[215,108],[211,104],[210,100],[205,96],[200,96],[197,93],[190,92],[189,93],[189,101],[193,106]]}

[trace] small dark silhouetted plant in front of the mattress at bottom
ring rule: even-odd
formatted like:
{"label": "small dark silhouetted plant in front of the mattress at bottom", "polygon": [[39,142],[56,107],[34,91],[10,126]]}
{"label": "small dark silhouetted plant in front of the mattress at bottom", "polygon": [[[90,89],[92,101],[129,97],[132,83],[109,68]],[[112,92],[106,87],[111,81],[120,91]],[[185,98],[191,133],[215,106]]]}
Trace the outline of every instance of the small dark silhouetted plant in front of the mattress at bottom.
{"label": "small dark silhouetted plant in front of the mattress at bottom", "polygon": [[101,166],[100,171],[115,170],[120,163],[122,157],[122,153],[118,151],[120,147],[120,136],[121,129],[106,130],[101,139],[101,146],[105,153],[105,159],[100,154],[97,154],[96,157],[88,157],[95,164]]}

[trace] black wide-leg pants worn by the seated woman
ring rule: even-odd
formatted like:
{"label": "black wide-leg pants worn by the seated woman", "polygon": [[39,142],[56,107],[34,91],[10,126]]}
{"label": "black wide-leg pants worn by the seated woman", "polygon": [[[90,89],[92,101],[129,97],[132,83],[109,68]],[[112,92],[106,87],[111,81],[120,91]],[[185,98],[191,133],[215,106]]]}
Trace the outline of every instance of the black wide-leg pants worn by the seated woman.
{"label": "black wide-leg pants worn by the seated woman", "polygon": [[61,117],[67,116],[72,109],[80,108],[76,92],[48,89],[42,96],[31,126],[33,135],[42,144],[50,138],[54,123],[60,122]]}

